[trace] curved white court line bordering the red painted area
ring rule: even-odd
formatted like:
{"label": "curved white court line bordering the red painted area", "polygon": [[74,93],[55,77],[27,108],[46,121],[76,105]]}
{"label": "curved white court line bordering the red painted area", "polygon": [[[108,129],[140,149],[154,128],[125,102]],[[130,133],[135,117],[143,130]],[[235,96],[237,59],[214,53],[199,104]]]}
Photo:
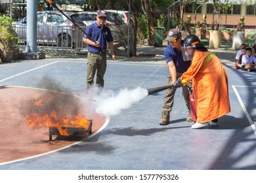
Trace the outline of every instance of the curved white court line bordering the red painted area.
{"label": "curved white court line bordering the red painted area", "polygon": [[[0,85],[1,86],[1,85]],[[56,91],[53,91],[53,90],[47,90],[47,89],[41,89],[41,88],[32,88],[32,87],[23,87],[23,86],[11,86],[12,88],[29,88],[29,89],[33,89],[33,90],[45,90],[45,91],[50,91],[50,92],[56,92]],[[58,92],[58,93],[63,93],[63,92]],[[75,96],[75,97],[79,97],[79,96]],[[79,97],[81,99],[83,99],[83,97]],[[98,133],[100,133],[110,122],[110,116],[106,116],[106,119],[105,119],[105,122],[104,124],[102,125],[102,127],[100,127],[100,129],[98,129],[97,131],[95,131],[95,133],[89,135],[87,137],[87,139],[91,139],[93,137],[95,137],[95,135],[98,135]],[[48,155],[48,154],[52,154],[54,152],[58,152],[60,150],[64,150],[66,148],[70,148],[71,146],[74,146],[76,144],[79,144],[83,141],[78,141],[78,142],[74,142],[73,144],[69,144],[68,146],[64,146],[62,148],[58,148],[56,150],[52,150],[52,151],[49,151],[49,152],[45,152],[45,153],[42,153],[42,154],[37,154],[35,156],[30,156],[30,157],[27,157],[27,158],[21,158],[21,159],[15,159],[13,161],[6,161],[6,162],[3,162],[3,163],[0,163],[0,166],[1,165],[7,165],[7,164],[10,164],[10,163],[16,163],[18,161],[25,161],[25,160],[28,160],[28,159],[33,159],[33,158],[38,158],[38,157],[41,157],[41,156],[45,156],[45,155]]]}

